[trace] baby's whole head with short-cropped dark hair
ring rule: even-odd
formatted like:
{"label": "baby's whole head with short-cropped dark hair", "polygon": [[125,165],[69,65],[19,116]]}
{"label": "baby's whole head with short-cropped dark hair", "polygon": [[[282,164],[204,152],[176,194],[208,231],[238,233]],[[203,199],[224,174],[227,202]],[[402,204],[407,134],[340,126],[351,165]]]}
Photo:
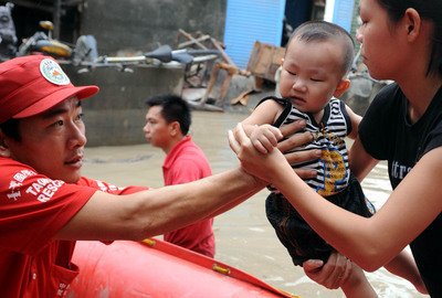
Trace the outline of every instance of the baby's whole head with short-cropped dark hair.
{"label": "baby's whole head with short-cropped dark hair", "polygon": [[285,52],[280,93],[302,111],[319,111],[349,86],[355,50],[350,34],[325,21],[301,24]]}

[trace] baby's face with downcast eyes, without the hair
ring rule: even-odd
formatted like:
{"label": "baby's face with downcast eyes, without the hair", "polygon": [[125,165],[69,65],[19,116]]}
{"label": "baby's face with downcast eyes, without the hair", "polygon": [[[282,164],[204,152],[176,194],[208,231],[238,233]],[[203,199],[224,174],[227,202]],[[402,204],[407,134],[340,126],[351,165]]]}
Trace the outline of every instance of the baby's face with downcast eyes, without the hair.
{"label": "baby's face with downcast eyes, without the hair", "polygon": [[343,46],[337,41],[293,39],[287,47],[280,93],[304,113],[318,113],[343,79]]}

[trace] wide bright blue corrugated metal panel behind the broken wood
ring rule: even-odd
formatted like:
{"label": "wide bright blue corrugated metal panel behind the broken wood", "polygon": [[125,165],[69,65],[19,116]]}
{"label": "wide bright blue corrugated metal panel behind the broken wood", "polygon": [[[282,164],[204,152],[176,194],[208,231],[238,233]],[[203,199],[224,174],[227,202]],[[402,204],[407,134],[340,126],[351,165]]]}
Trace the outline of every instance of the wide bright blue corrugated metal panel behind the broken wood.
{"label": "wide bright blue corrugated metal panel behind the broken wood", "polygon": [[285,0],[228,0],[225,52],[242,70],[255,41],[281,44]]}

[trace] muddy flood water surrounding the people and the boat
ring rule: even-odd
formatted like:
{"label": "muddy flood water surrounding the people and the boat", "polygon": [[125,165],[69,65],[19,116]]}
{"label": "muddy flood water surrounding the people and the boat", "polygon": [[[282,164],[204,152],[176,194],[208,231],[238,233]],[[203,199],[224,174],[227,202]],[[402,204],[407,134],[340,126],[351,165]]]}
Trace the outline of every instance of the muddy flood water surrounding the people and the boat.
{"label": "muddy flood water surrounding the people and the boat", "polygon": [[[238,166],[231,152],[227,131],[245,115],[193,111],[191,135],[209,158],[214,173]],[[140,134],[143,134],[140,128]],[[84,174],[117,185],[161,187],[165,155],[150,145],[86,148]],[[364,181],[366,195],[380,207],[390,192],[387,166],[380,163]],[[265,217],[263,190],[214,221],[215,258],[254,275],[267,284],[302,297],[344,297],[340,290],[328,290],[311,281],[301,267],[294,267],[285,248]],[[427,297],[410,283],[383,268],[367,274],[379,297]]]}

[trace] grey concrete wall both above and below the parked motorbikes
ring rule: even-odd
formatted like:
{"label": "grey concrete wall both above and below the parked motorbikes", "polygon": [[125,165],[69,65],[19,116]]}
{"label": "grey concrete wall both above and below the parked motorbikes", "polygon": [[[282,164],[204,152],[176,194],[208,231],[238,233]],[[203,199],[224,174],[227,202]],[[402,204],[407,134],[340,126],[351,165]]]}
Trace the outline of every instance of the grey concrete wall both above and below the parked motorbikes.
{"label": "grey concrete wall both above and below the parked motorbikes", "polygon": [[[91,0],[85,4],[80,33],[95,36],[98,55],[149,52],[160,44],[173,49],[179,29],[220,41],[224,34],[225,0]],[[145,99],[180,95],[183,85],[182,67],[135,67],[134,73],[102,67],[80,75],[66,68],[74,83],[101,87],[94,99],[83,104],[88,146],[144,143]]]}

